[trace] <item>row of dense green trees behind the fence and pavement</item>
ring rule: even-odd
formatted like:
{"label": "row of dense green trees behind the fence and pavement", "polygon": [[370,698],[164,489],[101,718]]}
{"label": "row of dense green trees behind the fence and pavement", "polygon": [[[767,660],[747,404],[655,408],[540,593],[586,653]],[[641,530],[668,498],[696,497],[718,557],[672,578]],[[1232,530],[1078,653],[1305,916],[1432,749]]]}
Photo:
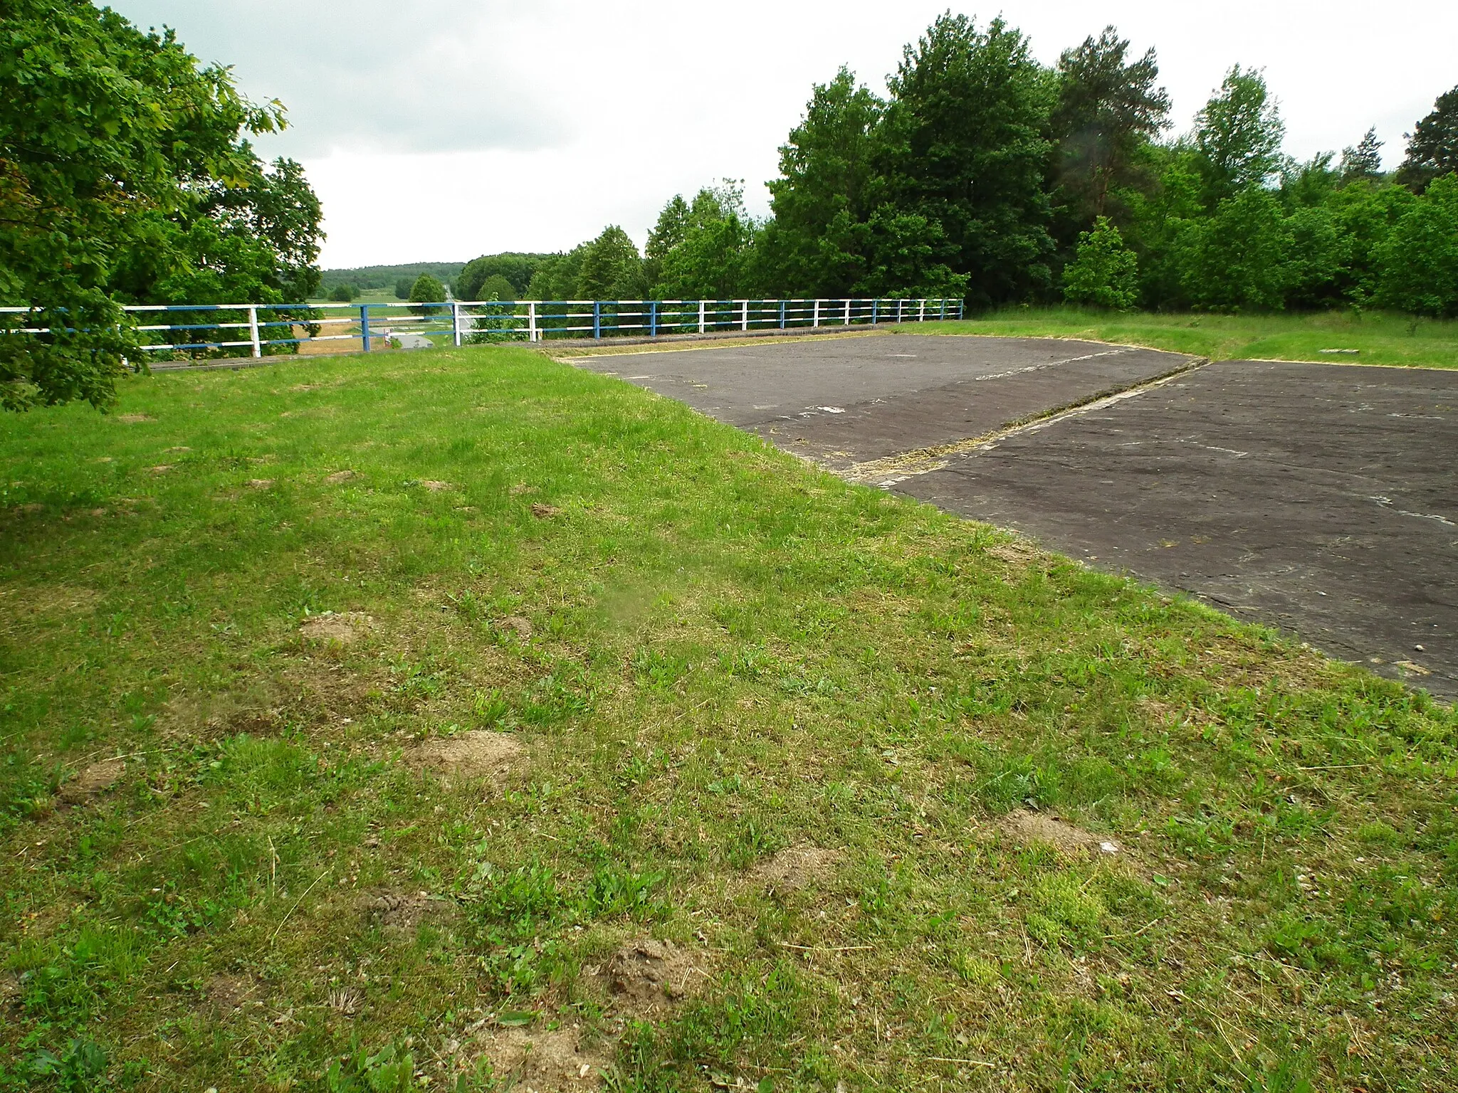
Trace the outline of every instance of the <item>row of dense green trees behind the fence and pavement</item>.
{"label": "row of dense green trees behind the fence and pavement", "polygon": [[943,15],[881,98],[816,85],[771,213],[742,182],[663,207],[640,252],[608,226],[566,254],[484,255],[461,299],[965,297],[1158,310],[1458,313],[1458,87],[1382,171],[1368,130],[1296,162],[1264,76],[1232,67],[1171,137],[1155,50],[1110,26],[1040,64],[1002,19]]}

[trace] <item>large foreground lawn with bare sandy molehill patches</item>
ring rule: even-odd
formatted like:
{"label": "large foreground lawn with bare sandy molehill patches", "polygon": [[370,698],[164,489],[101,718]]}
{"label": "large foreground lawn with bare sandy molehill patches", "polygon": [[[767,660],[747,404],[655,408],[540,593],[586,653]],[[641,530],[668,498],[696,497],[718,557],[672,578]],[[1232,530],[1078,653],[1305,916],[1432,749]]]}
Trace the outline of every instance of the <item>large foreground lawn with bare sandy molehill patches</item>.
{"label": "large foreground lawn with bare sandy molehill patches", "polygon": [[0,465],[0,1089],[1458,1086],[1422,694],[521,347]]}

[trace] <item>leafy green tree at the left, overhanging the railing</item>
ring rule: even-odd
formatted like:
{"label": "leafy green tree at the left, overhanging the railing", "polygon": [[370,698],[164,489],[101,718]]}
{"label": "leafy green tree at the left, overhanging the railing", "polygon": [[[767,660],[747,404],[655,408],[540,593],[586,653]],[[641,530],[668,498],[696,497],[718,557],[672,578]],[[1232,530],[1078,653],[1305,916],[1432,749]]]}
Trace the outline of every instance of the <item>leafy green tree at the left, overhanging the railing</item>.
{"label": "leafy green tree at the left, overhanging the railing", "polygon": [[[82,0],[0,23],[0,401],[105,407],[137,338],[122,303],[293,303],[318,287],[302,168],[245,134],[284,124],[171,31]],[[48,326],[26,335],[17,326]]]}

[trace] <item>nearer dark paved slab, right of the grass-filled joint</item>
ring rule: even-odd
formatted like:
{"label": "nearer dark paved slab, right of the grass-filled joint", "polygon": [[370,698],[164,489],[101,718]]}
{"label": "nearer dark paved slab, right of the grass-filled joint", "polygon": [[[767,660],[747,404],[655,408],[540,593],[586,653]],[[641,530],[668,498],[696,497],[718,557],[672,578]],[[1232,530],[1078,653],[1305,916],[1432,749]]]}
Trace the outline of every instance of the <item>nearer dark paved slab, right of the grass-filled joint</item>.
{"label": "nearer dark paved slab, right of the grass-filled joint", "polygon": [[1458,697],[1458,372],[1210,364],[897,488]]}

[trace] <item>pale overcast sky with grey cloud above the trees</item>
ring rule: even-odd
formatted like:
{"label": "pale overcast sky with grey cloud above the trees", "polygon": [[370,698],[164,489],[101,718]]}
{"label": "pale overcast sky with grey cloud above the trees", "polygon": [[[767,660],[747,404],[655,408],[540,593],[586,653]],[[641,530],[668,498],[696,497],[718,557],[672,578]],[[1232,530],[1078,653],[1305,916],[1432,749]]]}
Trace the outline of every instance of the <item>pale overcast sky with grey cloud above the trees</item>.
{"label": "pale overcast sky with grey cloud above the trees", "polygon": [[[663,201],[720,178],[751,211],[805,109],[840,64],[878,92],[948,0],[923,3],[497,3],[117,0],[172,26],[292,128],[260,141],[303,162],[324,200],[325,267],[555,251],[623,224],[640,243]],[[1266,70],[1286,152],[1403,133],[1458,85],[1452,0],[1006,0],[1044,63],[1114,23],[1159,51],[1178,130],[1232,64]]]}

